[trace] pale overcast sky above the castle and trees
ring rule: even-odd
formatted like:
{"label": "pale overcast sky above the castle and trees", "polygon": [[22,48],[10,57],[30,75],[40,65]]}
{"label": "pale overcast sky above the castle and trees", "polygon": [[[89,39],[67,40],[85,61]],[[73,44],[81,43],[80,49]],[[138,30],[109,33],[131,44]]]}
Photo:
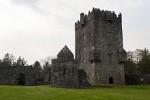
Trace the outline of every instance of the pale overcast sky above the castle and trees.
{"label": "pale overcast sky above the castle and trees", "polygon": [[93,7],[122,13],[126,51],[150,49],[150,0],[0,0],[0,58],[33,64],[64,45],[74,53],[74,24]]}

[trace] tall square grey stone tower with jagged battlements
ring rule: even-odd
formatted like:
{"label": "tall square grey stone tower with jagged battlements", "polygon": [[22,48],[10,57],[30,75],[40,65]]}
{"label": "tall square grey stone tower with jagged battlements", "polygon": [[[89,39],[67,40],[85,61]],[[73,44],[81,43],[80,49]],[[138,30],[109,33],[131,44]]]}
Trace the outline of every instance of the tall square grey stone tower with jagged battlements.
{"label": "tall square grey stone tower with jagged battlements", "polygon": [[97,8],[75,23],[75,58],[92,84],[124,84],[122,17]]}

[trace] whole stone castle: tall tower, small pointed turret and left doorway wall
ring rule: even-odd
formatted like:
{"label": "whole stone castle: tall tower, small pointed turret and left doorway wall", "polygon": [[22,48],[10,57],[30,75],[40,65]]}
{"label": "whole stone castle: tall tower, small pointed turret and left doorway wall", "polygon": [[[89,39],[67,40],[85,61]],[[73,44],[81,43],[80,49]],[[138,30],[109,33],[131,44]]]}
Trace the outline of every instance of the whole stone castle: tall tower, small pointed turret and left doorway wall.
{"label": "whole stone castle: tall tower, small pointed turret and left doorway wall", "polygon": [[[93,8],[75,23],[75,59],[65,46],[52,60],[46,81],[55,87],[85,88],[90,84],[125,84],[122,17]],[[36,85],[31,66],[0,66],[0,84]]]}

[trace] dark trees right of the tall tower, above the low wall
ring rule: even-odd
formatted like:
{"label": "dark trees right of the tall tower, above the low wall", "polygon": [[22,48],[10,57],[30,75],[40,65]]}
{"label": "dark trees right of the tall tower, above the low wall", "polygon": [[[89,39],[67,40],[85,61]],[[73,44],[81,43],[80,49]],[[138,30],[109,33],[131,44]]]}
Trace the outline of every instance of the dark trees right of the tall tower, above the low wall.
{"label": "dark trees right of the tall tower, above the low wall", "polygon": [[[127,62],[125,64],[126,74],[149,74],[150,73],[150,52],[148,49],[136,49],[127,53]],[[136,67],[137,68],[136,68]],[[136,70],[137,69],[137,70]]]}

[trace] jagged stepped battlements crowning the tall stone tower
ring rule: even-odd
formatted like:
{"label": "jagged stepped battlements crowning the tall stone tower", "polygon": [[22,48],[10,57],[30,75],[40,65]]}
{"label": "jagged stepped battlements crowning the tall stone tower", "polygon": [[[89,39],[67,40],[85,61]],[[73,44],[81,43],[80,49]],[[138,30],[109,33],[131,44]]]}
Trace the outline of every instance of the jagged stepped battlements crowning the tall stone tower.
{"label": "jagged stepped battlements crowning the tall stone tower", "polygon": [[81,13],[80,20],[75,23],[75,29],[81,27],[83,24],[88,23],[90,20],[103,20],[109,22],[122,23],[122,15],[119,13],[115,14],[114,11],[100,10],[99,8],[93,8],[88,14]]}

